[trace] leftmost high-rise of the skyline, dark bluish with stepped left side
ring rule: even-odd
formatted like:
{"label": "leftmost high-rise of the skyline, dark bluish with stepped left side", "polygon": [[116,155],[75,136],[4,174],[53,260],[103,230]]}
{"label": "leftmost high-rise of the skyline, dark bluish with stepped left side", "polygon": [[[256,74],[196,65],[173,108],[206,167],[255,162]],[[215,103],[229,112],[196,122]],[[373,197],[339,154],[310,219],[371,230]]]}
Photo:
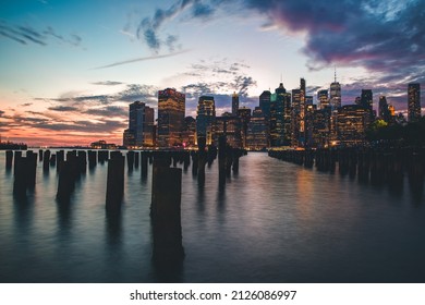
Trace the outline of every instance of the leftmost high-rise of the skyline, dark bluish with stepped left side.
{"label": "leftmost high-rise of the skyline, dark bluish with stepped left side", "polygon": [[129,106],[129,129],[123,134],[127,147],[153,146],[154,109],[145,102],[135,101]]}

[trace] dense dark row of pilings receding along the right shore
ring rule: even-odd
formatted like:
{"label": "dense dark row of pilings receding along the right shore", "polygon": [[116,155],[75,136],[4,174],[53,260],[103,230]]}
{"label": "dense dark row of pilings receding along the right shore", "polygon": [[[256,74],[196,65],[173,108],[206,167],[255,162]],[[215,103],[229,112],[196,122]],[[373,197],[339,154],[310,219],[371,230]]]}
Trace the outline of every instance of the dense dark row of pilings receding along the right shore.
{"label": "dense dark row of pilings receding along the right shore", "polygon": [[318,171],[359,175],[360,180],[392,180],[408,172],[412,179],[425,175],[425,148],[331,148],[270,150],[269,156]]}

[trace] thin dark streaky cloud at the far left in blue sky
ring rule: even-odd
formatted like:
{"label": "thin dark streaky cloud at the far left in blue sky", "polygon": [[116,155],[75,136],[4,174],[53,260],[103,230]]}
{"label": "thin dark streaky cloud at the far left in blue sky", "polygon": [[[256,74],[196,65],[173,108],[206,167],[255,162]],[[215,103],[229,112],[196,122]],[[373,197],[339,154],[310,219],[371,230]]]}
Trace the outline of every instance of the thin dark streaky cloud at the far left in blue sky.
{"label": "thin dark streaky cloud at the far left in blue sky", "polygon": [[0,36],[10,38],[21,45],[36,44],[47,46],[49,39],[52,38],[59,42],[78,47],[82,41],[82,37],[78,35],[71,34],[70,37],[64,37],[57,34],[51,26],[39,30],[28,25],[9,25],[5,21],[0,21]]}

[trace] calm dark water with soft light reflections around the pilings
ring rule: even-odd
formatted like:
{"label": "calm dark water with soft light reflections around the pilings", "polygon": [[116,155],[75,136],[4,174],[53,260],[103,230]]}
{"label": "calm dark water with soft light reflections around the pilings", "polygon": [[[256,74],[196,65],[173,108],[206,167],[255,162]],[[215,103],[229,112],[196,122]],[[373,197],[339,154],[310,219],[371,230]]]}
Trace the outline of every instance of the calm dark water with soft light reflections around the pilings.
{"label": "calm dark water with soft light reflections around the pilings", "polygon": [[[24,152],[25,155],[25,152]],[[217,161],[198,187],[183,172],[183,266],[151,264],[151,168],[125,172],[121,217],[105,212],[107,163],[56,202],[54,168],[13,198],[0,151],[1,282],[425,282],[424,183],[399,187],[248,154],[218,185]]]}

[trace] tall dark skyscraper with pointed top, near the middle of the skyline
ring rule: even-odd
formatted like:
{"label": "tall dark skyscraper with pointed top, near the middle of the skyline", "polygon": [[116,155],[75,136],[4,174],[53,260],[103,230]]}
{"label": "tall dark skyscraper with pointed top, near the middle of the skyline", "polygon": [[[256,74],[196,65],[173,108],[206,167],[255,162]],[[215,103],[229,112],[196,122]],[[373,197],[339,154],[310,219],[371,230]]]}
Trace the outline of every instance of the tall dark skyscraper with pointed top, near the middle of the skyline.
{"label": "tall dark skyscraper with pointed top, near the middle of the skyline", "polygon": [[270,145],[274,147],[290,145],[291,133],[291,94],[280,83],[270,97]]}

